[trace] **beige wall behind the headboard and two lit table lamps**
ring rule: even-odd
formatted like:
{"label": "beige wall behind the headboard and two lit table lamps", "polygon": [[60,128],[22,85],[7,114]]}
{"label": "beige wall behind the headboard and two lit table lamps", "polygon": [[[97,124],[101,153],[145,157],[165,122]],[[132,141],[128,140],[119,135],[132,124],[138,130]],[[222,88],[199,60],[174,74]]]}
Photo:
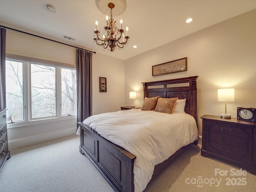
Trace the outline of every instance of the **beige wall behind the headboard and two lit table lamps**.
{"label": "beige wall behind the headboard and two lit table lamps", "polygon": [[[126,60],[125,103],[131,103],[129,91],[137,91],[134,103],[136,106],[142,105],[141,82],[199,76],[197,97],[200,135],[200,116],[218,116],[225,112],[225,103],[217,101],[218,88],[235,88],[235,102],[227,103],[227,113],[232,117],[236,118],[238,106],[256,107],[255,18],[256,10],[252,10]],[[186,72],[152,77],[153,65],[184,57],[188,57]]]}

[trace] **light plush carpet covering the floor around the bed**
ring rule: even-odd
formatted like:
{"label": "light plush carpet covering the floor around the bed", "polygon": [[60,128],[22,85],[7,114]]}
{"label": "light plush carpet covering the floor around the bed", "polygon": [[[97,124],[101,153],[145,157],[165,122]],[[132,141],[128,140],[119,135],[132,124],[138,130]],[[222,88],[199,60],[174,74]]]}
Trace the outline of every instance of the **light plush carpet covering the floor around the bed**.
{"label": "light plush carpet covering the floor around the bed", "polygon": [[[72,135],[12,150],[0,172],[0,191],[114,192],[92,162],[80,154],[79,142],[79,136]],[[215,169],[228,173],[215,175]],[[191,144],[144,192],[255,192],[256,176],[232,176],[233,169],[240,172],[239,166],[202,157],[200,146]]]}

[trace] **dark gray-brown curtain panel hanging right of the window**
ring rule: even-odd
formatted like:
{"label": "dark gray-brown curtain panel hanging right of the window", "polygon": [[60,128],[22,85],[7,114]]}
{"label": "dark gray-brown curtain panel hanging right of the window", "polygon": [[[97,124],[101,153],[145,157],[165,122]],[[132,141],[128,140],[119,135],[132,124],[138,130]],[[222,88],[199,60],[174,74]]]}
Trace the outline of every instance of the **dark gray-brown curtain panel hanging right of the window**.
{"label": "dark gray-brown curtain panel hanging right of the window", "polygon": [[77,121],[92,115],[92,53],[76,49]]}

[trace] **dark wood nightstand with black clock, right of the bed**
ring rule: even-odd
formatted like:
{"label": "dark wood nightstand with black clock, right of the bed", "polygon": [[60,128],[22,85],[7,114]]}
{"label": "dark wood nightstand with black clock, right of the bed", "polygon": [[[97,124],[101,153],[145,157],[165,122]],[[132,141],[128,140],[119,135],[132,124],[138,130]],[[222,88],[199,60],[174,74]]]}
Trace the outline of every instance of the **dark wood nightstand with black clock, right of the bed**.
{"label": "dark wood nightstand with black clock, right of the bed", "polygon": [[201,118],[201,155],[227,160],[256,175],[256,123],[212,115]]}

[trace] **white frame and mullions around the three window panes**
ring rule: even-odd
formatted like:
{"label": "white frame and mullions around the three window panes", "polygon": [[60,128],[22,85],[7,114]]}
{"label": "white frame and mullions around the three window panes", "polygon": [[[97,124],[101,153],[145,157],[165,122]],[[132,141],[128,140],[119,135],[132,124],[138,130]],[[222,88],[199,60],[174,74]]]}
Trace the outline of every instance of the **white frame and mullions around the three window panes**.
{"label": "white frame and mullions around the three window panes", "polygon": [[[14,123],[8,123],[8,128],[14,128],[19,126],[41,124],[46,122],[55,122],[66,119],[77,118],[77,114],[64,114],[62,115],[61,97],[62,97],[62,87],[61,87],[61,69],[67,68],[76,70],[76,66],[72,64],[66,64],[62,62],[32,58],[27,56],[20,56],[15,54],[6,53],[6,60],[14,60],[18,62],[23,62],[23,111],[24,120],[14,121]],[[31,64],[40,64],[45,66],[56,67],[55,71],[55,86],[56,86],[56,116],[44,117],[44,118],[32,118],[31,114]]]}

